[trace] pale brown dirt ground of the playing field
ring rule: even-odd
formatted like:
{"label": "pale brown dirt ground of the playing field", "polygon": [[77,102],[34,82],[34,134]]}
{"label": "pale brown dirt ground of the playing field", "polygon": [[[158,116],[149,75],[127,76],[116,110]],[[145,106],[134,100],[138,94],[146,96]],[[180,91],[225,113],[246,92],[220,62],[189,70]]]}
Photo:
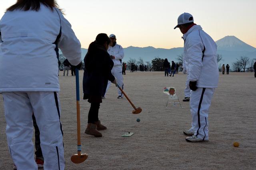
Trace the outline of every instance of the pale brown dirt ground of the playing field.
{"label": "pale brown dirt ground of the playing field", "polygon": [[[80,71],[80,87],[82,73]],[[61,121],[67,170],[256,169],[256,78],[253,73],[220,74],[209,113],[209,142],[188,143],[182,131],[190,128],[189,102],[181,102],[182,109],[166,108],[168,96],[163,93],[164,86],[174,86],[182,100],[186,75],[180,72],[174,77],[165,77],[164,72],[127,72],[124,90],[137,107],[142,107],[142,113],[133,115],[128,101],[117,99],[117,89],[112,85],[99,111],[99,118],[108,129],[102,131],[103,137],[95,138],[84,133],[89,103],[81,100],[82,153],[89,155],[81,164],[70,161],[77,145],[75,77],[62,74],[60,72]],[[82,98],[82,88],[80,92]],[[137,118],[141,120],[139,123]],[[13,163],[5,128],[4,106],[0,100],[0,169],[11,170]],[[134,135],[121,137],[125,132],[134,132]],[[235,141],[240,143],[238,148],[233,147]]]}

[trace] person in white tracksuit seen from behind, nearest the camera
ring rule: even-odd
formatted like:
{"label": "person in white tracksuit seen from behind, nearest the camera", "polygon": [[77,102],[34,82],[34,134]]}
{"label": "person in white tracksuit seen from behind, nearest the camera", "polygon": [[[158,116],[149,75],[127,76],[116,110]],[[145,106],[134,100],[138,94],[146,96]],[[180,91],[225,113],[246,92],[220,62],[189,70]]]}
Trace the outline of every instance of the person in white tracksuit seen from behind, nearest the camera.
{"label": "person in white tracksuit seen from behind, nearest the camera", "polygon": [[79,67],[80,42],[54,0],[19,0],[0,20],[0,32],[0,92],[12,160],[18,170],[38,169],[32,143],[34,112],[44,170],[64,170],[58,48]]}

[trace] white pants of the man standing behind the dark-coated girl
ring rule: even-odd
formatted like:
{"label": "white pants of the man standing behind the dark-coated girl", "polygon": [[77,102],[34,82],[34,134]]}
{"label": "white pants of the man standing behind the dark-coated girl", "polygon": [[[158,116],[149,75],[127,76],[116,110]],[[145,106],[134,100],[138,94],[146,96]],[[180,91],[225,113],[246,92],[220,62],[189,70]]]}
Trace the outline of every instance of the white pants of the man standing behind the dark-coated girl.
{"label": "white pants of the man standing behind the dark-coated girl", "polygon": [[[122,89],[124,89],[124,78],[123,78],[123,75],[122,75],[122,66],[114,66],[111,70],[112,74],[116,77],[117,79],[117,83],[119,84],[120,87],[122,87]],[[111,82],[108,81],[108,86],[107,86],[107,89],[106,89],[106,93],[110,87],[110,84]],[[105,96],[106,96],[106,93],[105,93]],[[118,88],[118,96],[123,96],[121,90],[119,90]]]}

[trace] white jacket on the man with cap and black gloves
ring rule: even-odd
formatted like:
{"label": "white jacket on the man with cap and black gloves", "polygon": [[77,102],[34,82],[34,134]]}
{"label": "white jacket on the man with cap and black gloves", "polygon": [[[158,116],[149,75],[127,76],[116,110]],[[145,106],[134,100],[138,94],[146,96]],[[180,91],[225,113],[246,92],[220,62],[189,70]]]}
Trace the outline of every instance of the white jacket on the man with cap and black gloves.
{"label": "white jacket on the man with cap and black gloves", "polygon": [[217,45],[214,40],[202,30],[200,25],[192,26],[183,35],[183,39],[189,81],[197,81],[196,86],[199,88],[216,88],[219,70],[216,58]]}

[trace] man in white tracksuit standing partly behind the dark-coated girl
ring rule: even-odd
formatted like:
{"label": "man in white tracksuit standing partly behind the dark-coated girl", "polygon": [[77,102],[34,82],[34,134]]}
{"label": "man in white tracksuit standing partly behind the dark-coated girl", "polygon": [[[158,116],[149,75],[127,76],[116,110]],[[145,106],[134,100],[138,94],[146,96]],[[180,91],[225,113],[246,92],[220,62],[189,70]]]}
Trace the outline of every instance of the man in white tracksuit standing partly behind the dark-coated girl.
{"label": "man in white tracksuit standing partly behind the dark-coated girl", "polygon": [[[114,62],[114,66],[112,68],[112,74],[116,77],[117,79],[117,83],[119,84],[119,86],[124,89],[124,79],[123,79],[123,75],[122,75],[122,59],[124,58],[124,49],[121,45],[118,45],[116,43],[116,35],[111,34],[109,36],[109,38],[112,41],[112,45],[110,45],[108,47],[108,54],[110,55],[110,57],[112,58],[113,62]],[[110,87],[111,82],[108,81],[108,86],[106,89],[106,93],[108,91],[108,88]],[[106,93],[104,96],[102,96],[103,98],[105,98]],[[118,99],[123,98],[124,95],[122,94],[121,90],[119,90],[118,88]]]}

